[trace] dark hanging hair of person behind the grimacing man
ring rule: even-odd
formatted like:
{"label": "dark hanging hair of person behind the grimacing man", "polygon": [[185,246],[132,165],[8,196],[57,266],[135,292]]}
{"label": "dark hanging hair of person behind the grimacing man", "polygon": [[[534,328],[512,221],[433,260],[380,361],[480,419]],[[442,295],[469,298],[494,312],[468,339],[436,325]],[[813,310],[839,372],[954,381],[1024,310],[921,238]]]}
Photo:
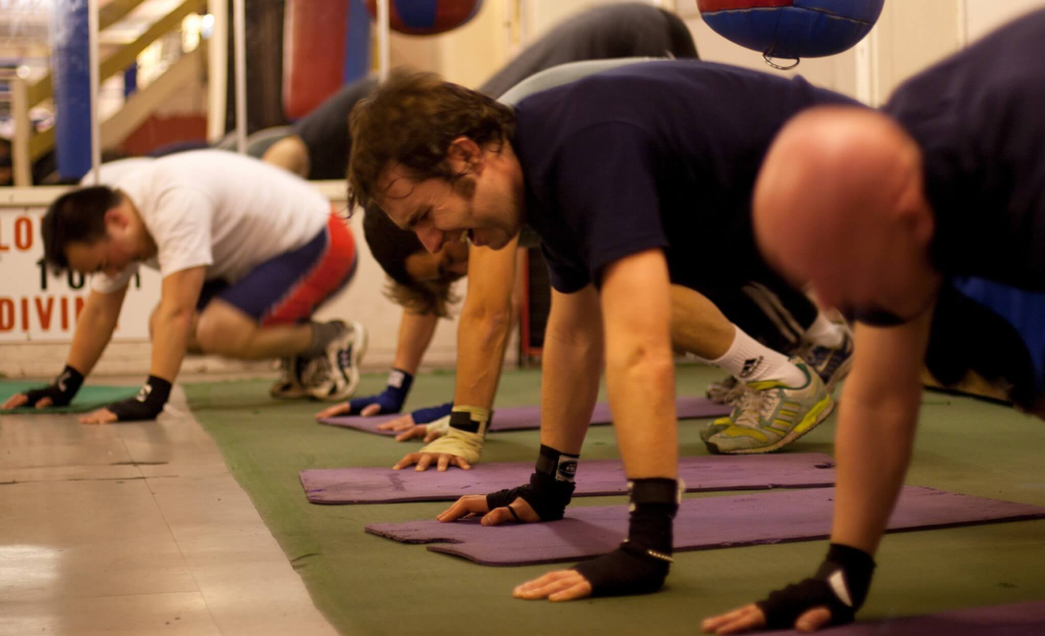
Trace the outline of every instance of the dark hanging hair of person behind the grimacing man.
{"label": "dark hanging hair of person behind the grimacing man", "polygon": [[417,281],[407,272],[407,258],[424,252],[416,234],[399,229],[380,208],[371,205],[363,215],[363,235],[377,264],[392,279],[385,290],[389,299],[412,313],[449,315],[447,306],[457,302],[452,281]]}

